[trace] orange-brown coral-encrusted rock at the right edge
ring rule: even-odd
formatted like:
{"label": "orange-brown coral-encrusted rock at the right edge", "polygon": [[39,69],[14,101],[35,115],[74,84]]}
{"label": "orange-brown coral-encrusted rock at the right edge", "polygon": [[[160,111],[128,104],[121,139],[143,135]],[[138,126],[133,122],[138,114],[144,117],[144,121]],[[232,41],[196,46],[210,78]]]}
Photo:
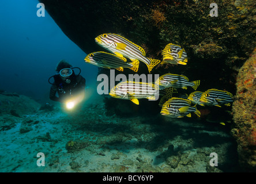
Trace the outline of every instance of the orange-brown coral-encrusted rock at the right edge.
{"label": "orange-brown coral-encrusted rock at the right edge", "polygon": [[256,171],[256,48],[240,68],[233,105],[239,162],[246,171]]}

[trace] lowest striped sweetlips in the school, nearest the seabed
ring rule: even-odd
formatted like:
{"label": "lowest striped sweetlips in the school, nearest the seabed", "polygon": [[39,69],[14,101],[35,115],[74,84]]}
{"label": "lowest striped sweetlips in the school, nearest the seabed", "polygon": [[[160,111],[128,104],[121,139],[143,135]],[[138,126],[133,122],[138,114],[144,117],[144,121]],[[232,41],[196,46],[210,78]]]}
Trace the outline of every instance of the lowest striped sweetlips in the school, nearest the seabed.
{"label": "lowest striped sweetlips in the school, nearest the seabed", "polygon": [[195,106],[191,106],[191,101],[188,99],[172,97],[163,104],[161,114],[167,117],[191,117],[191,113],[197,114],[200,117],[200,112]]}

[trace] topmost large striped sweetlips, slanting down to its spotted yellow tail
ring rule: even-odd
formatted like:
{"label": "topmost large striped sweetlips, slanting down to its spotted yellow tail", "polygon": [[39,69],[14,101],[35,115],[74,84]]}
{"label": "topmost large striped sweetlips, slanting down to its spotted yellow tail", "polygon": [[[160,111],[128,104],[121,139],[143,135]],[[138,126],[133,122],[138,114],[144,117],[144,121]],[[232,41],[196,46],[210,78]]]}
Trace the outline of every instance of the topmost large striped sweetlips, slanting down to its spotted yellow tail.
{"label": "topmost large striped sweetlips, slanting down to its spotted yellow tail", "polygon": [[148,66],[148,71],[152,70],[161,61],[156,59],[149,59],[146,57],[146,53],[142,47],[132,43],[125,37],[122,37],[114,33],[104,33],[97,36],[95,39],[96,43],[108,51],[115,53],[120,57],[127,57],[131,61],[140,60]]}

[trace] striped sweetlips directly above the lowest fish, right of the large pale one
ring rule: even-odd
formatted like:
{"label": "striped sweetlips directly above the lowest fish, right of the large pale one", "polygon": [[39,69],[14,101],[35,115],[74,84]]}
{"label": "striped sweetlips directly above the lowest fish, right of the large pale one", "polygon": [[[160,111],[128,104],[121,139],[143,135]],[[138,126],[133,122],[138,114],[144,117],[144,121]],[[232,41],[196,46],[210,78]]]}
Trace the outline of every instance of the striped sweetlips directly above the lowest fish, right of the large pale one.
{"label": "striped sweetlips directly above the lowest fish, right of the large pale one", "polygon": [[200,80],[189,82],[189,78],[183,75],[176,74],[164,74],[159,76],[156,80],[156,84],[164,87],[174,87],[187,89],[187,86],[191,86],[194,90],[200,85]]}

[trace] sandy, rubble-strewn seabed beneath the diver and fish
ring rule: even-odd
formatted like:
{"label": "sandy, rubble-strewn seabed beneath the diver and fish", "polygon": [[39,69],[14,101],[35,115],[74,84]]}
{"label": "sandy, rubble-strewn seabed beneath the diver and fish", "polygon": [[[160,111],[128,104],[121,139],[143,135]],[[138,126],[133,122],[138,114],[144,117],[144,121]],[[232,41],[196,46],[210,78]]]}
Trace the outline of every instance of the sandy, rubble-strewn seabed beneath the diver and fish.
{"label": "sandy, rubble-strewn seabed beneath the diver and fish", "polygon": [[229,132],[191,118],[106,116],[97,100],[77,113],[55,108],[2,120],[0,172],[239,171]]}

